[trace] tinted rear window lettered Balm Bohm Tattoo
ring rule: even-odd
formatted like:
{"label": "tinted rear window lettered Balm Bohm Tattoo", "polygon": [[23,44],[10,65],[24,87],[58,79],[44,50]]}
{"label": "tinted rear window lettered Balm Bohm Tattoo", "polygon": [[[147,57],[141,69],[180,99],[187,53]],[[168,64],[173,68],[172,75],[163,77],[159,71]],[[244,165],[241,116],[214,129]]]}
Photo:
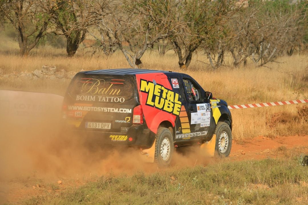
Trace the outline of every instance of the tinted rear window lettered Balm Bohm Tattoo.
{"label": "tinted rear window lettered Balm Bohm Tattoo", "polygon": [[69,95],[80,102],[123,103],[133,98],[128,78],[80,76],[75,78]]}

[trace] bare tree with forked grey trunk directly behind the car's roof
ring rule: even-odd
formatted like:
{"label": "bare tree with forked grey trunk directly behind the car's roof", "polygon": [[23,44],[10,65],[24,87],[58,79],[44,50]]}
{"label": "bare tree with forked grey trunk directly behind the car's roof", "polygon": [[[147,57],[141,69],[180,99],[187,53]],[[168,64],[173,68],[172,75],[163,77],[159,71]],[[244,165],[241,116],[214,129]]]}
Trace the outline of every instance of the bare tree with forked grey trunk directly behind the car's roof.
{"label": "bare tree with forked grey trunk directly behind the car's roof", "polygon": [[[93,6],[100,33],[117,44],[129,65],[142,66],[144,52],[174,29],[170,15],[177,1],[102,1]],[[102,37],[103,38],[103,37]],[[106,39],[106,38],[104,38]]]}

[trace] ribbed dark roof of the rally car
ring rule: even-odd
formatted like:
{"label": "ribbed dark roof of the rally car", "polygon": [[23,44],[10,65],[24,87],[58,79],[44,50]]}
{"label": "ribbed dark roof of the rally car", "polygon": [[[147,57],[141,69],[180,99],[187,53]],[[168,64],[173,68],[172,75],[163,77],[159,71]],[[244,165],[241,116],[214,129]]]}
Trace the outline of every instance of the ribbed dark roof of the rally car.
{"label": "ribbed dark roof of the rally car", "polygon": [[121,69],[104,69],[104,70],[91,70],[91,71],[85,71],[84,73],[108,73],[108,74],[128,74],[128,75],[135,75],[135,74],[147,74],[147,73],[173,73],[178,74],[177,72],[172,71],[165,71],[165,70],[148,70],[148,69],[134,69],[134,68],[121,68]]}

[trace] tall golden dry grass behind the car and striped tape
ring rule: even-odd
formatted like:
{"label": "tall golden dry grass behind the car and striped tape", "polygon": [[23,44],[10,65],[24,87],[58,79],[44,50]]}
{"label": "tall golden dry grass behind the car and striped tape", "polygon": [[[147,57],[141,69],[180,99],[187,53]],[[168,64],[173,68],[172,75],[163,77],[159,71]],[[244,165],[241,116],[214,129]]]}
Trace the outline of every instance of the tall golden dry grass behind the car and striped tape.
{"label": "tall golden dry grass behind the car and striped tape", "polygon": [[[43,65],[54,65],[57,70],[75,72],[129,67],[121,52],[107,58],[102,54],[91,55],[86,50],[79,50],[74,58],[67,58],[64,49],[46,46],[34,49],[27,58],[20,58],[17,53],[16,48],[0,49],[0,69],[3,74],[32,72]],[[277,59],[279,63],[268,63],[266,67],[255,67],[253,62],[248,62],[246,67],[239,68],[234,68],[232,58],[227,56],[226,65],[217,70],[202,63],[206,62],[206,56],[200,52],[186,70],[178,68],[177,57],[172,51],[164,57],[149,51],[141,60],[145,69],[171,70],[191,75],[206,91],[211,91],[216,98],[225,99],[229,105],[308,98],[307,55],[284,56]],[[68,83],[0,78],[0,89],[63,94]],[[307,119],[298,115],[303,107],[307,105],[232,110],[233,139],[249,139],[258,135],[308,135]]]}

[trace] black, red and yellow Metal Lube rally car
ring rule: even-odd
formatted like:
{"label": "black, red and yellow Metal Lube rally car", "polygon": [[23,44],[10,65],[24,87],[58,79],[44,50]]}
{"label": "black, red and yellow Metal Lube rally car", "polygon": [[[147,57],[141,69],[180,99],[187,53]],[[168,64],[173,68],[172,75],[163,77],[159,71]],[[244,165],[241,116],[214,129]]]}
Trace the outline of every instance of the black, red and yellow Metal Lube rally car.
{"label": "black, red and yellow Metal Lube rally car", "polygon": [[[171,71],[113,69],[79,72],[63,101],[65,129],[95,143],[130,146],[168,165],[174,148],[208,143],[228,156],[232,117],[189,75]],[[213,140],[212,140],[213,141]]]}

